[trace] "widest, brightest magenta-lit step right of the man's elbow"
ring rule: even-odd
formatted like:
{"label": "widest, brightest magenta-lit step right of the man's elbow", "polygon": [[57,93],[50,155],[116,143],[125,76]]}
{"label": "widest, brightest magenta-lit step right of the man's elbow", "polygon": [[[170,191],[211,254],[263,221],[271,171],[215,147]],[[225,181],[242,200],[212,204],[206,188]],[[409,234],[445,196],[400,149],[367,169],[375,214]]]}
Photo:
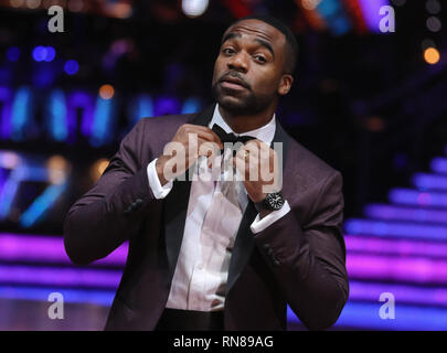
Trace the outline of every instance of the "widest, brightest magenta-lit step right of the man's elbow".
{"label": "widest, brightest magenta-lit step right of the man's elbow", "polygon": [[348,254],[351,279],[447,285],[447,260]]}

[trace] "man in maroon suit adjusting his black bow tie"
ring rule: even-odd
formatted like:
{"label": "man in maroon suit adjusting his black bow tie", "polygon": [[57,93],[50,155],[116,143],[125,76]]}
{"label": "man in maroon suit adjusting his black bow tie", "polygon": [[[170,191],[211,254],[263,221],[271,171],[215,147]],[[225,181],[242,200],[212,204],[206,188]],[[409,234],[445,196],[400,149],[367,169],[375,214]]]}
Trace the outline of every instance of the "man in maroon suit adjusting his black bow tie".
{"label": "man in maroon suit adjusting his black bow tie", "polygon": [[[141,119],[72,206],[64,236],[75,264],[129,242],[106,330],[285,330],[287,304],[309,329],[337,321],[349,293],[342,178],[275,117],[296,55],[273,18],[231,25],[214,67],[216,104]],[[240,146],[234,158],[226,142]],[[269,178],[227,178],[266,163]],[[192,165],[212,178],[191,178]]]}

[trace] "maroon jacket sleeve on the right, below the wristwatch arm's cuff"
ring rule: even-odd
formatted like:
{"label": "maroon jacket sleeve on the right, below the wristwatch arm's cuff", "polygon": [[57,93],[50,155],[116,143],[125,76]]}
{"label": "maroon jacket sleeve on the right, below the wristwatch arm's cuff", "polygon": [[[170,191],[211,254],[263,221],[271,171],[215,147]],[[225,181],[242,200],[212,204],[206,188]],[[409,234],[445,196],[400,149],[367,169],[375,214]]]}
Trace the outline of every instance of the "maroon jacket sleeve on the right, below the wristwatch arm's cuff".
{"label": "maroon jacket sleeve on the right, below the wristwatch arm's cuff", "polygon": [[306,225],[289,212],[255,235],[288,304],[310,330],[331,327],[349,297],[341,174],[334,171],[319,190]]}

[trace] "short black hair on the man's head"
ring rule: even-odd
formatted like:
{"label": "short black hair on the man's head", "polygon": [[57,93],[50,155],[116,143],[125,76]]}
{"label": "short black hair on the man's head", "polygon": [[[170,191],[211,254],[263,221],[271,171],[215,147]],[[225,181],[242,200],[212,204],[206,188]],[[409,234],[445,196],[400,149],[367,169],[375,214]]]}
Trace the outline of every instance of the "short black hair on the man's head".
{"label": "short black hair on the man's head", "polygon": [[268,14],[251,14],[247,15],[243,19],[238,19],[237,21],[233,22],[230,26],[235,25],[236,23],[245,20],[259,20],[263,21],[275,29],[277,29],[279,32],[281,32],[286,36],[286,62],[285,62],[285,67],[284,72],[286,74],[292,75],[295,73],[297,60],[298,60],[298,43],[297,39],[295,38],[295,34],[290,31],[290,29],[280,20],[268,15]]}

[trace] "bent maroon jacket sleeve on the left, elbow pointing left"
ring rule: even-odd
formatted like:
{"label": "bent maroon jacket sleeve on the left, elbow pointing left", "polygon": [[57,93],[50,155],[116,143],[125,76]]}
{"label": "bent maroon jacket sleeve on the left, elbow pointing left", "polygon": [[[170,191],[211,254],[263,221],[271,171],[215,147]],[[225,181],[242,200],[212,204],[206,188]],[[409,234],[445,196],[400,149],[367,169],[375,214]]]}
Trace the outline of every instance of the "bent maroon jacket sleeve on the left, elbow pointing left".
{"label": "bent maroon jacket sleeve on the left, elbow pointing left", "polygon": [[87,265],[137,234],[142,210],[155,200],[147,165],[140,165],[141,119],[123,139],[100,179],[70,208],[64,245],[71,260]]}

